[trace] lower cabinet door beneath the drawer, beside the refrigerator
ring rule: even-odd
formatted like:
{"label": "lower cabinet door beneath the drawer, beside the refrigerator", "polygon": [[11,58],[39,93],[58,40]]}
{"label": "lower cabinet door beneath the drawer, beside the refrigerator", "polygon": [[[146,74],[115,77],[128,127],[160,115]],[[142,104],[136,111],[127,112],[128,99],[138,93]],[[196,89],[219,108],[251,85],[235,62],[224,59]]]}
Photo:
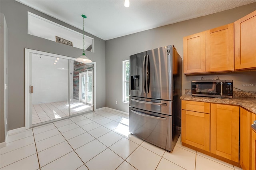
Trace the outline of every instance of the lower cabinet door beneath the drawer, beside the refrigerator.
{"label": "lower cabinet door beneath the drawer, beside the refrigerator", "polygon": [[182,110],[181,140],[197,148],[210,151],[210,114]]}

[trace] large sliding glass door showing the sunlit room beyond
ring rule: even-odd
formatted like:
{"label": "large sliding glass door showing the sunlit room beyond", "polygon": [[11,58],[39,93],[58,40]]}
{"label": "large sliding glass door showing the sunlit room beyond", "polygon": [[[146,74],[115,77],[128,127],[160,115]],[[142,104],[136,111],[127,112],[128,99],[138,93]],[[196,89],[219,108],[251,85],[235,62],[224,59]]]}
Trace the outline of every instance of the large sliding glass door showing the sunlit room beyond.
{"label": "large sliding glass door showing the sunlit room beyond", "polygon": [[93,64],[37,53],[30,63],[32,125],[94,110]]}

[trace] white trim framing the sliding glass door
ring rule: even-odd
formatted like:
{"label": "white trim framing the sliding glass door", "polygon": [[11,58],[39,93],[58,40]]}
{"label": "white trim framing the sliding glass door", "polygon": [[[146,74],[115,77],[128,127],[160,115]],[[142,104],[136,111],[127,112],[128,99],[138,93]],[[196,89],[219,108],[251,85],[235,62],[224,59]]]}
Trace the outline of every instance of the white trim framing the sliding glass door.
{"label": "white trim framing the sliding glass door", "polygon": [[[29,93],[30,92],[29,86],[31,81],[30,73],[31,73],[31,66],[32,66],[30,58],[32,57],[32,53],[75,60],[75,58],[73,57],[25,48],[25,129],[29,129],[32,127],[32,115],[30,114],[32,103],[30,100],[30,93]],[[92,62],[92,63],[94,64],[94,108],[96,108],[96,62]]]}

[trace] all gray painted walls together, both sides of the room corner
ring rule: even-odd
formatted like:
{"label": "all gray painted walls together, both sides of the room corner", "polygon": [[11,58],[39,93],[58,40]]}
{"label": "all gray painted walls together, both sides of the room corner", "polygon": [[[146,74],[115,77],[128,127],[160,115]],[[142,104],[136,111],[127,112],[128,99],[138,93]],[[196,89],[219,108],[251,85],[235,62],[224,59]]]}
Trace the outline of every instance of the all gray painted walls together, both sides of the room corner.
{"label": "all gray painted walls together, both sides of the room corner", "polygon": [[[136,34],[131,34],[108,40],[106,42],[100,38],[85,33],[87,36],[95,39],[95,53],[87,52],[86,55],[92,59],[92,61],[96,62],[97,108],[106,106],[128,112],[128,104],[122,103],[122,61],[129,59],[130,55],[148,49],[173,44],[177,48],[178,53],[183,57],[184,36],[229,24],[254,10],[256,10],[256,3]],[[74,28],[13,0],[1,0],[0,11],[4,13],[6,17],[9,32],[8,130],[12,130],[25,126],[24,48],[70,57],[78,57],[82,53],[81,49],[28,35],[27,12],[32,12],[80,33],[82,33],[82,30]],[[234,79],[234,86],[237,88],[256,91],[255,87],[248,88],[243,86],[244,83],[255,83],[255,72],[226,73],[218,75],[220,79]],[[215,74],[204,76],[213,78],[216,77]],[[200,77],[201,75],[183,75],[183,93],[184,89],[190,89],[190,81],[192,79],[200,79]],[[115,105],[115,101],[118,101],[118,105]]]}

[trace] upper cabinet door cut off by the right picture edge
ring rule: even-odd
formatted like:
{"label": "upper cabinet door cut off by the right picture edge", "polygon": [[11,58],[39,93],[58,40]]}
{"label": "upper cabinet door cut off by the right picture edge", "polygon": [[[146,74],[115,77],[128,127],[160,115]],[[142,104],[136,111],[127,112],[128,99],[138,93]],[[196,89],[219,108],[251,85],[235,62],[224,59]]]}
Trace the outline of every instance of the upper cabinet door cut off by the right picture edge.
{"label": "upper cabinet door cut off by the right picture edge", "polygon": [[256,67],[256,11],[234,22],[235,69]]}

